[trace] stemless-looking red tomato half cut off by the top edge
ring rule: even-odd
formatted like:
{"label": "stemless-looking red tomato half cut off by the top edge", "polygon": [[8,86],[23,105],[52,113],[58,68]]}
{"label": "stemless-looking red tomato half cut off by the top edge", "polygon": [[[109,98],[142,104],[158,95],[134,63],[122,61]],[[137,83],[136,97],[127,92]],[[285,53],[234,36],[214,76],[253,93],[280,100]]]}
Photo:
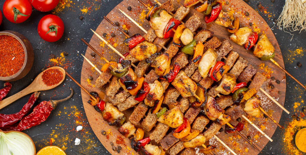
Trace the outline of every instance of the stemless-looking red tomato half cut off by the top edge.
{"label": "stemless-looking red tomato half cut off by the top edge", "polygon": [[59,0],[29,0],[32,6],[41,12],[51,11],[58,5]]}

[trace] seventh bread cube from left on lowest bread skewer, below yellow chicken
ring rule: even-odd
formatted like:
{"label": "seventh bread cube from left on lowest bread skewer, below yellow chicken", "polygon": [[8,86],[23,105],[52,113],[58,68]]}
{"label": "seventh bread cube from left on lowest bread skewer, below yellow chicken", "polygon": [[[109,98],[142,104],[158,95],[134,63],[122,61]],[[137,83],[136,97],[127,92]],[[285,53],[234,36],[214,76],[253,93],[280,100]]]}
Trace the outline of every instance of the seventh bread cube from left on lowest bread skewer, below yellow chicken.
{"label": "seventh bread cube from left on lowest bread skewer, below yellow chicken", "polygon": [[164,138],[169,128],[170,127],[168,125],[158,122],[155,129],[150,133],[150,139],[155,140],[156,143],[159,143],[162,138]]}

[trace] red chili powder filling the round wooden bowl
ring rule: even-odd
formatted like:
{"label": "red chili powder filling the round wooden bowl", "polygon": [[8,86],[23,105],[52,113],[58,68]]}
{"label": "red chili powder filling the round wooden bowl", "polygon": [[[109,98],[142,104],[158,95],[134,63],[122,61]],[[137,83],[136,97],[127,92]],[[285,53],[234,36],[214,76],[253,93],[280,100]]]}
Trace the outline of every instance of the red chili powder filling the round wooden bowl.
{"label": "red chili powder filling the round wooden bowl", "polygon": [[21,43],[12,36],[0,36],[0,76],[16,74],[24,64],[24,50]]}

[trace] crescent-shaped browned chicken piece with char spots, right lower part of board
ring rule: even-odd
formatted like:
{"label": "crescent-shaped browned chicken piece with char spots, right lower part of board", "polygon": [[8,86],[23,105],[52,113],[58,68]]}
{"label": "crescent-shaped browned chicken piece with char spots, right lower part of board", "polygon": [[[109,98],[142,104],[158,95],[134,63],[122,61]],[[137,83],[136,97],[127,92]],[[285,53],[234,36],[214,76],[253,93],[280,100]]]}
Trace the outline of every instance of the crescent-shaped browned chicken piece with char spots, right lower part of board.
{"label": "crescent-shaped browned chicken piece with char spots, right lower part of board", "polygon": [[217,118],[222,119],[224,112],[225,111],[221,109],[221,107],[217,104],[215,98],[208,95],[207,103],[204,106],[204,113],[206,114],[206,116],[210,120],[215,121]]}

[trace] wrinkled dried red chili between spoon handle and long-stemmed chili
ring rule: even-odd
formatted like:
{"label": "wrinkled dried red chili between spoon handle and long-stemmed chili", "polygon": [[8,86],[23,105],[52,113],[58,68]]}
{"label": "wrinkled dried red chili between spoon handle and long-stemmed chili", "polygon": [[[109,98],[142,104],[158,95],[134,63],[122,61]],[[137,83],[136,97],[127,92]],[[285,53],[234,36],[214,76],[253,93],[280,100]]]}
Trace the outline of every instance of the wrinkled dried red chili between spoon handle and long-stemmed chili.
{"label": "wrinkled dried red chili between spoon handle and long-stemmed chili", "polygon": [[34,102],[37,100],[39,96],[39,92],[35,92],[31,95],[31,97],[29,98],[28,103],[26,103],[23,108],[21,109],[21,111],[15,113],[15,114],[0,114],[0,128],[6,126],[6,125],[12,125],[16,122],[18,122],[19,120],[21,120],[21,118],[24,117],[25,114],[28,114],[29,111],[31,110]]}

